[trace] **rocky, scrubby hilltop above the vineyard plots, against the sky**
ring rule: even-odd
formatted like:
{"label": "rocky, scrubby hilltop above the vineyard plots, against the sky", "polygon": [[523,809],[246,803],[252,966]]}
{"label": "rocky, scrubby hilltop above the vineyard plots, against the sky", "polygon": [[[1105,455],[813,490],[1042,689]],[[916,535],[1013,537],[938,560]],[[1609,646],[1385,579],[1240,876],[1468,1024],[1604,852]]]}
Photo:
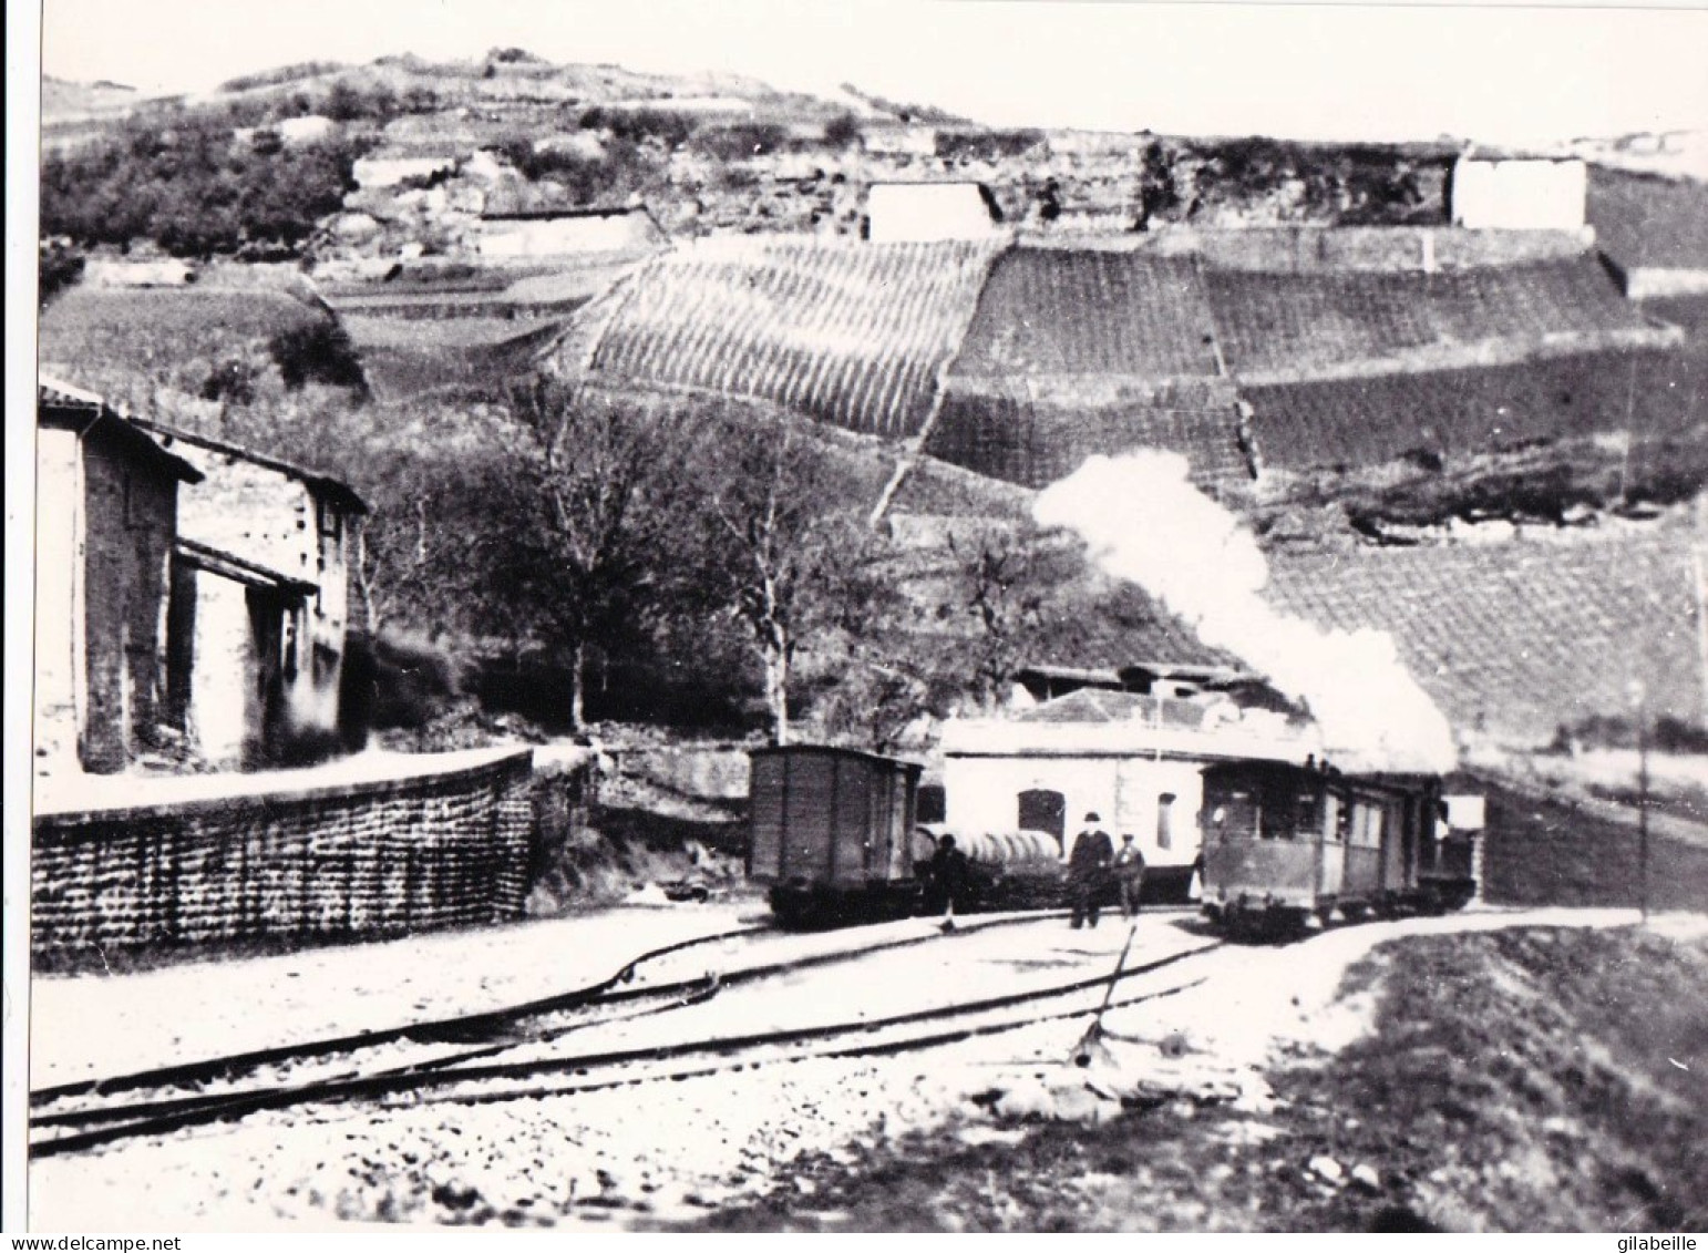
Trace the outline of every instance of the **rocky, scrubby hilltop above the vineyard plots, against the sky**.
{"label": "rocky, scrubby hilltop above the vineyard plots, against the sky", "polygon": [[[671,236],[859,234],[880,181],[984,183],[1003,221],[1047,231],[1161,224],[1440,224],[1452,145],[1310,145],[1257,138],[992,130],[854,89],[828,99],[731,75],[552,65],[524,50],[432,63],[314,62],[191,99],[50,84],[43,142],[50,234],[154,239],[179,253],[260,243],[147,221],[167,188],[159,138],[208,132],[219,162],[289,162],[338,145],[342,205],[304,207],[285,244],[318,260],[470,256],[482,212],[642,198]],[[360,162],[360,166],[359,166]],[[79,202],[102,203],[91,222]],[[128,202],[128,203],[126,203]],[[205,214],[222,197],[203,197]],[[343,212],[338,212],[342,209]],[[155,214],[159,217],[159,214]],[[217,217],[217,214],[215,214]],[[205,224],[203,224],[205,226]],[[270,239],[280,232],[273,229]]]}

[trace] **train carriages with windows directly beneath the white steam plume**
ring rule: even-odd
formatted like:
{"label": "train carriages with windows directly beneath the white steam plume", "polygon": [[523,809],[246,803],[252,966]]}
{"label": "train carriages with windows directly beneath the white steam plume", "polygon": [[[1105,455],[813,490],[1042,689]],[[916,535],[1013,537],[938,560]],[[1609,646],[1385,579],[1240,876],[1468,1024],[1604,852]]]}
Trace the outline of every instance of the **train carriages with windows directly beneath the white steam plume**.
{"label": "train carriages with windows directly beneath the white steam plume", "polygon": [[1445,909],[1476,891],[1471,839],[1443,838],[1440,779],[1307,762],[1204,769],[1204,911],[1231,932],[1336,913]]}

